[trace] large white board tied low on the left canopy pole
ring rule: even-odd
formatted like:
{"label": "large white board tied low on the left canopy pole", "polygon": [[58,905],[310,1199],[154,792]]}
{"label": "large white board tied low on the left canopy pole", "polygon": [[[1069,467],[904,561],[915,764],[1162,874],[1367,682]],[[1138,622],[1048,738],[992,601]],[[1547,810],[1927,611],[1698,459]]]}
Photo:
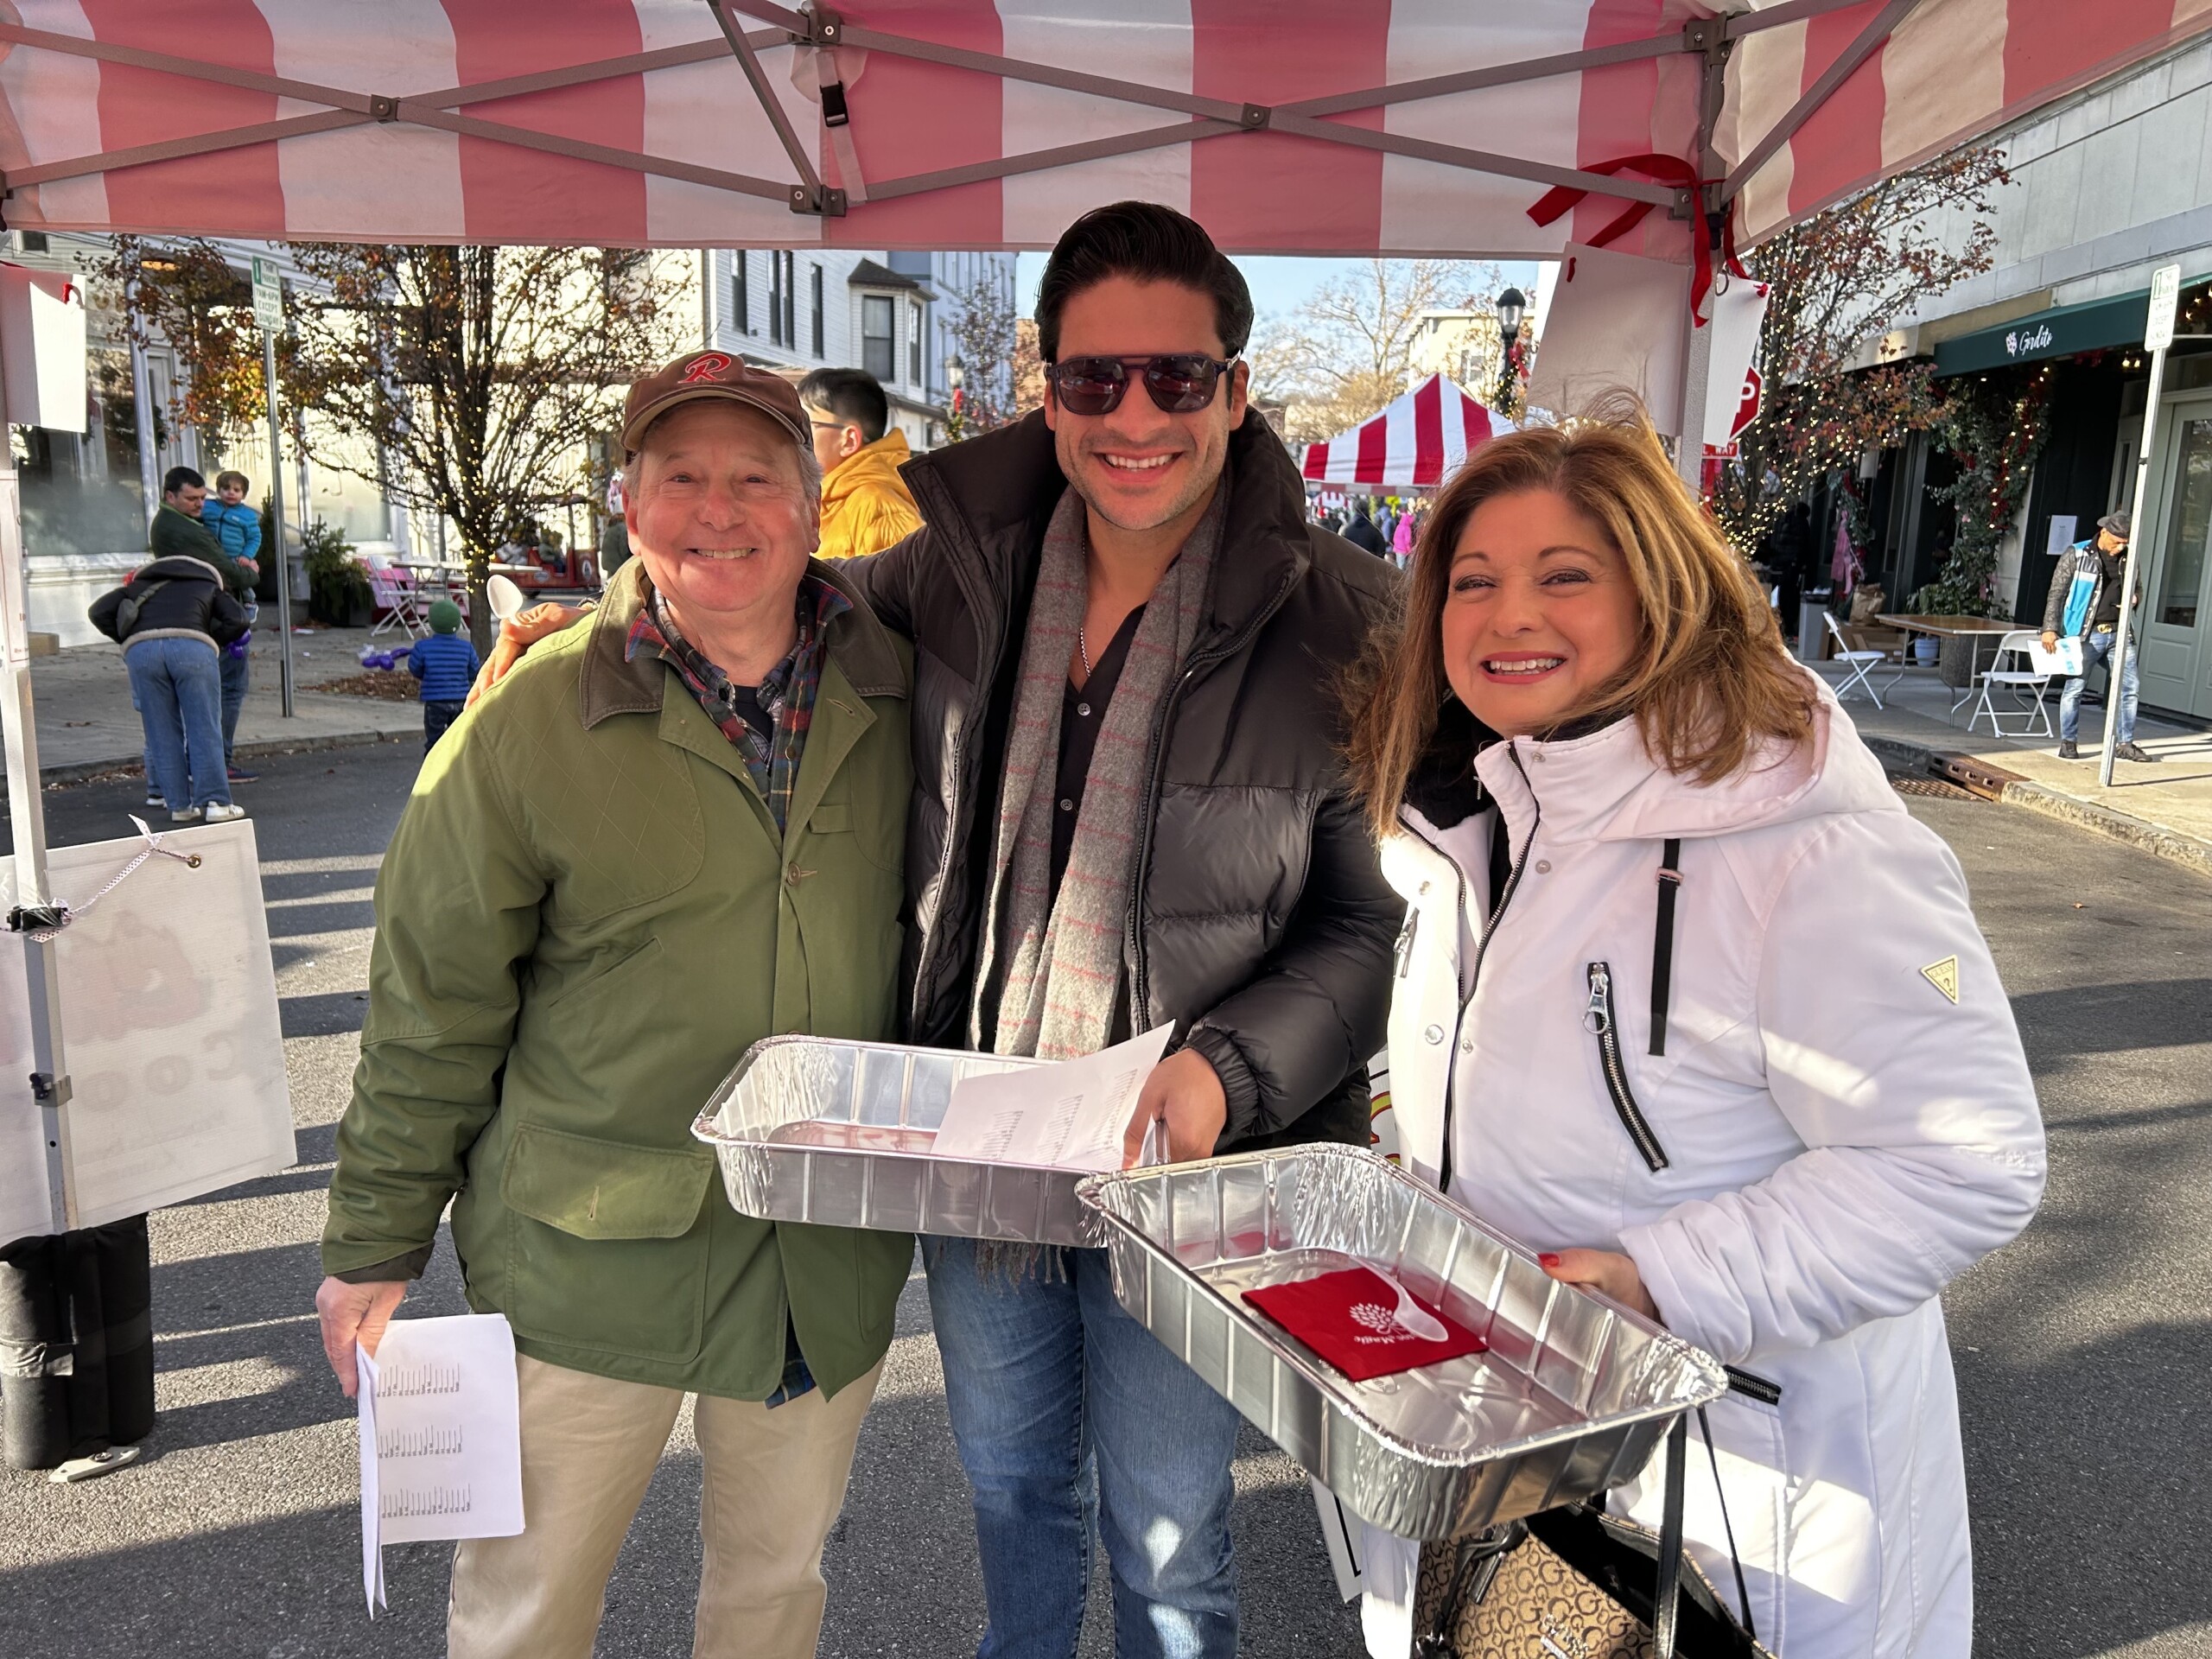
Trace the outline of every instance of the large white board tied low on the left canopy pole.
{"label": "large white board tied low on the left canopy pole", "polygon": [[[82,907],[144,841],[53,847],[46,885]],[[148,858],[55,940],[77,1225],[97,1228],[288,1168],[292,1093],[252,821],[175,830],[190,869]],[[13,905],[13,869],[0,891]],[[29,989],[0,938],[0,1239],[53,1232],[29,1088]]]}

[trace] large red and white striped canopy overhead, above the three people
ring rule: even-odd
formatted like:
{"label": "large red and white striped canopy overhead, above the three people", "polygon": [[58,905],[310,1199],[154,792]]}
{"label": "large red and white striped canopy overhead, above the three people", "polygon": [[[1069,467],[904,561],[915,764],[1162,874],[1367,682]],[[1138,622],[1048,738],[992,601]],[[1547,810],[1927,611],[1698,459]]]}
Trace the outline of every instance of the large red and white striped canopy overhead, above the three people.
{"label": "large red and white striped canopy overhead, above the three people", "polygon": [[[0,0],[18,228],[1681,259],[2212,27],[2208,0]],[[1701,144],[1708,77],[1717,117]],[[827,91],[825,91],[827,86]],[[1655,168],[1619,166],[1657,157]],[[1670,177],[1672,175],[1672,177]],[[1551,186],[1593,195],[1548,226]]]}

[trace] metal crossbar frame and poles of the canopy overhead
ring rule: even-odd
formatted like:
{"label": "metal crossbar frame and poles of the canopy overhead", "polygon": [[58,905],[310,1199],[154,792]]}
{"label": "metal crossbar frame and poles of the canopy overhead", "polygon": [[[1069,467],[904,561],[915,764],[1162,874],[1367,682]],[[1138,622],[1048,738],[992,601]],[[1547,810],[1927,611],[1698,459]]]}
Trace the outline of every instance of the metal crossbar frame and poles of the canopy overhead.
{"label": "metal crossbar frame and poles of the canopy overhead", "polygon": [[[1860,2],[1863,0],[1783,0],[1783,4],[1761,11],[1699,18],[1683,29],[1646,40],[1626,40],[1608,46],[1493,64],[1486,69],[1389,82],[1383,86],[1363,86],[1323,97],[1294,100],[1287,104],[1201,97],[1137,80],[1088,75],[1075,69],[1060,69],[1057,64],[1040,64],[1022,58],[1006,58],[1002,53],[967,51],[878,29],[847,29],[834,11],[792,11],[770,4],[768,0],[701,0],[701,7],[714,22],[714,33],[679,46],[595,58],[531,75],[476,82],[471,86],[442,86],[411,93],[325,86],[321,82],[303,82],[285,75],[265,75],[234,64],[206,62],[199,58],[148,51],[139,46],[122,46],[104,40],[86,40],[82,35],[62,35],[44,29],[29,29],[18,22],[0,22],[0,42],[9,42],[13,46],[86,58],[104,64],[124,64],[131,69],[177,75],[215,86],[234,86],[314,106],[310,113],[285,115],[270,122],[250,122],[217,133],[192,133],[157,144],[97,150],[62,161],[44,161],[40,166],[7,170],[0,173],[0,199],[40,184],[84,179],[133,166],[146,166],[150,161],[221,155],[226,150],[270,144],[307,133],[334,133],[367,124],[398,124],[458,133],[462,137],[542,150],[546,155],[560,155],[577,161],[599,161],[615,168],[628,168],[633,173],[681,179],[686,184],[699,184],[743,197],[785,201],[794,215],[834,219],[845,215],[849,201],[914,197],[929,190],[973,184],[978,179],[1006,179],[1024,173],[1046,173],[1077,161],[1135,155],[1141,150],[1190,144],[1194,139],[1234,139],[1237,135],[1250,133],[1294,133],[1323,144],[1343,144],[1349,148],[1402,155],[1471,173],[1526,179],[1528,184],[1546,188],[1566,186],[1597,197],[1610,197],[1615,201],[1659,206],[1674,219],[1692,221],[1688,226],[1692,237],[1705,237],[1708,246],[1719,246],[1730,204],[1743,192],[1743,186],[1776,155],[1776,150],[1790,142],[1794,133],[1803,128],[1812,115],[1827,104],[1834,91],[1867,62],[1876,46],[1880,46],[1880,42],[1887,40],[1891,31],[1911,13],[1916,0],[1889,0],[1889,4],[1882,7],[1882,11],[1865,24],[1865,29],[1860,29],[1845,53],[1836,58],[1836,62],[1805,88],[1796,104],[1792,104],[1790,111],[1743,153],[1736,166],[1730,173],[1719,175],[1710,155],[1710,142],[1725,102],[1728,58],[1734,44],[1765,29],[1805,22],[1807,18],[1840,11]],[[765,27],[741,29],[734,22],[737,15],[759,20]],[[1029,150],[1024,155],[975,161],[969,166],[933,168],[927,173],[863,181],[856,177],[849,108],[838,97],[836,111],[832,113],[825,108],[818,117],[821,131],[830,135],[841,164],[841,184],[832,186],[823,179],[814,161],[814,148],[792,124],[790,113],[776,97],[770,75],[761,64],[763,51],[781,46],[814,51],[816,62],[823,66],[825,84],[834,73],[834,51],[838,46],[849,46],[942,64],[949,69],[964,69],[978,75],[995,75],[1000,80],[1055,86],[1121,104],[1159,108],[1177,119],[1166,119],[1159,126],[1148,126],[1117,137],[1060,144]],[[1694,155],[1686,157],[1686,161],[1694,168],[1690,175],[1694,186],[1655,184],[1648,179],[1621,177],[1617,173],[1564,168],[1535,161],[1531,157],[1502,155],[1460,144],[1440,144],[1400,133],[1378,133],[1363,126],[1345,126],[1332,119],[1336,115],[1378,111],[1431,97],[1449,97],[1453,93],[1471,93],[1489,86],[1513,86],[1553,75],[1573,75],[1586,69],[1604,69],[1608,64],[1650,62],[1677,53],[1697,55],[1701,60],[1699,119],[1692,142]],[[776,142],[783,148],[794,177],[765,179],[734,168],[677,161],[646,150],[591,144],[586,139],[557,133],[540,133],[526,126],[493,119],[489,115],[471,113],[484,104],[495,104],[526,93],[586,86],[591,82],[604,82],[622,75],[644,75],[657,69],[717,62],[726,58],[739,66],[739,73],[743,73],[754,100],[774,128]],[[1683,319],[1688,334],[1690,387],[1686,396],[1688,407],[1683,409],[1683,434],[1699,434],[1703,431],[1703,383],[1708,378],[1705,336],[1710,336],[1710,330],[1699,330],[1690,323],[1692,319]],[[1683,473],[1692,482],[1697,476],[1697,456],[1699,445],[1686,436],[1679,445],[1679,460]],[[9,801],[13,803],[15,818],[15,902],[24,911],[18,920],[35,920],[40,914],[49,914],[46,907],[51,907],[53,894],[46,880],[46,823],[38,781],[38,732],[31,719],[29,619],[24,615],[24,597],[22,520],[15,500],[15,469],[11,458],[0,453],[0,734],[4,734]],[[53,1228],[60,1232],[77,1223],[75,1192],[73,1181],[69,1179],[66,1104],[71,1097],[71,1079],[62,1031],[60,973],[51,933],[40,940],[33,927],[20,927],[18,940],[27,953],[31,984],[31,1095],[46,1139],[51,1217]]]}

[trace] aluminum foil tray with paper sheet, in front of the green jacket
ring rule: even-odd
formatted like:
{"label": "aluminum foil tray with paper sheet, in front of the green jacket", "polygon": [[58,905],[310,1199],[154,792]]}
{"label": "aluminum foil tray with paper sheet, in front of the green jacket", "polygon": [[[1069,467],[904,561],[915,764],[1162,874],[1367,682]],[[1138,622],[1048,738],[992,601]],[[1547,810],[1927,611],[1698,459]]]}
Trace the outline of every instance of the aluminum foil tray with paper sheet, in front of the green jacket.
{"label": "aluminum foil tray with paper sheet, in front of the green jacket", "polygon": [[931,1157],[953,1084],[1035,1060],[768,1037],[699,1113],[730,1208],[763,1221],[1097,1245],[1079,1170]]}

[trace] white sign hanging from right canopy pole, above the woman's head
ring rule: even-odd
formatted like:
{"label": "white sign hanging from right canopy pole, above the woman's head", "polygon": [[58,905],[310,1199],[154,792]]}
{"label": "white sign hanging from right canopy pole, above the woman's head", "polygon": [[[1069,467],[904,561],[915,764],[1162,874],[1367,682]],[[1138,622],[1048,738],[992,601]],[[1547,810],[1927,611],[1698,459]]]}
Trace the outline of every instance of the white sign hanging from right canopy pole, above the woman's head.
{"label": "white sign hanging from right canopy pole, above the woman's head", "polygon": [[[1528,407],[1577,416],[1632,392],[1659,431],[1679,434],[1688,323],[1688,265],[1571,243],[1528,376]],[[1728,407],[1734,411],[1734,396]]]}

